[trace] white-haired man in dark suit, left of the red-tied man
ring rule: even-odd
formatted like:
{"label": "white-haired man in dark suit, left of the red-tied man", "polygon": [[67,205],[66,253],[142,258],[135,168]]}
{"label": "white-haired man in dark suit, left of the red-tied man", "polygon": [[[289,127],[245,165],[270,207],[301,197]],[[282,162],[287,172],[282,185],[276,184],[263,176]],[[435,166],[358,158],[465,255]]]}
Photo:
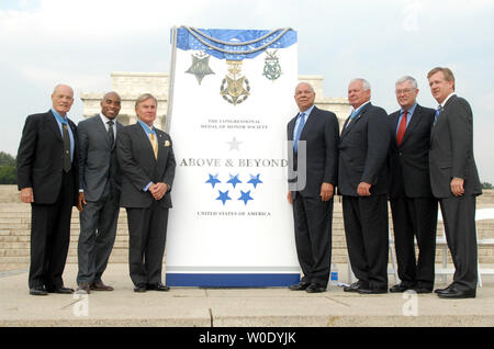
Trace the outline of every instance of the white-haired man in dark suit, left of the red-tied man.
{"label": "white-haired man in dark suit, left of the red-tied man", "polygon": [[348,87],[353,112],[339,140],[338,193],[343,195],[345,235],[358,281],[346,292],[388,292],[388,189],[390,131],[388,113],[370,102],[370,85]]}

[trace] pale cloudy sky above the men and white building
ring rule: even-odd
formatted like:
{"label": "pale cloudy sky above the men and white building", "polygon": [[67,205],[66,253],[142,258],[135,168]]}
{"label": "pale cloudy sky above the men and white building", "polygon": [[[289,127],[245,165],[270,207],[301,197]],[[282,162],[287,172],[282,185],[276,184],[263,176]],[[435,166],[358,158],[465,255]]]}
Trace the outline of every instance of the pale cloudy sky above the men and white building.
{"label": "pale cloudy sky above the men and white building", "polygon": [[[492,0],[2,0],[0,2],[0,150],[15,154],[26,115],[48,110],[58,82],[103,92],[112,71],[169,70],[173,25],[277,29],[299,33],[299,74],[322,75],[325,97],[346,97],[363,77],[372,102],[397,109],[394,82],[419,83],[419,103],[436,108],[427,71],[450,67],[457,93],[474,112],[474,150],[483,181],[494,182],[494,1]],[[292,102],[292,101],[290,101]]]}

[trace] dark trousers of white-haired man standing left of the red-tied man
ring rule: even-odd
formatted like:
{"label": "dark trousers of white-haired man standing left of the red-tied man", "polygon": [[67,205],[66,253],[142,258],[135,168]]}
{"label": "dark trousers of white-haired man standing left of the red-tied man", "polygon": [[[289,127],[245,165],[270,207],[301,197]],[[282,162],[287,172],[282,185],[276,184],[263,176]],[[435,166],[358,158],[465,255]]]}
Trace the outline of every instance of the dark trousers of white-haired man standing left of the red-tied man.
{"label": "dark trousers of white-haired man standing left of the red-tied man", "polygon": [[388,289],[388,198],[343,196],[351,270],[364,288]]}

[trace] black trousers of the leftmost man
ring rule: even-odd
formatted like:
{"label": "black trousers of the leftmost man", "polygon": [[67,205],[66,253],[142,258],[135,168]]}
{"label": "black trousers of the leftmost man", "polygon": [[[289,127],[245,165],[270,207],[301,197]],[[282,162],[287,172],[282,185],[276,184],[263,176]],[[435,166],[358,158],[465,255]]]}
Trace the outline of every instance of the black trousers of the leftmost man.
{"label": "black trousers of the leftmost man", "polygon": [[70,244],[72,205],[72,171],[64,172],[55,203],[31,204],[30,289],[45,285],[48,290],[53,290],[64,285],[61,274]]}

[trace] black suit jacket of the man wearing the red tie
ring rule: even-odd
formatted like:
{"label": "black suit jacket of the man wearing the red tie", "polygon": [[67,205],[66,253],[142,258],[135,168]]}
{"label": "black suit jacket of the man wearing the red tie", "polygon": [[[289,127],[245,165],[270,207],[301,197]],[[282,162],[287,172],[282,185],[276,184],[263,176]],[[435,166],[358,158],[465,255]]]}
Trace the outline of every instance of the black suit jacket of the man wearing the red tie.
{"label": "black suit jacket of the man wearing the red tie", "polygon": [[418,105],[406,127],[402,144],[396,142],[400,111],[390,114],[391,198],[430,198],[429,147],[434,109]]}

